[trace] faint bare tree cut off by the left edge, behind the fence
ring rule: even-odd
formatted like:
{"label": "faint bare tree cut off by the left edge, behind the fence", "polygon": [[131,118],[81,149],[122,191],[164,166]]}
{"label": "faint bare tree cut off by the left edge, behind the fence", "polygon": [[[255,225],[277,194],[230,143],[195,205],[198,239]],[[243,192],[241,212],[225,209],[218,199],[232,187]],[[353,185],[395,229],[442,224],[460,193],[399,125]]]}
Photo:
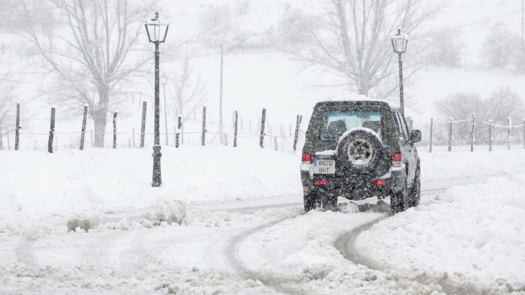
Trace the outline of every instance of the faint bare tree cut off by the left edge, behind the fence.
{"label": "faint bare tree cut off by the left edge, behind the fence", "polygon": [[[0,141],[15,130],[15,101],[17,81],[9,74],[0,76]],[[0,143],[0,146],[2,144]]]}

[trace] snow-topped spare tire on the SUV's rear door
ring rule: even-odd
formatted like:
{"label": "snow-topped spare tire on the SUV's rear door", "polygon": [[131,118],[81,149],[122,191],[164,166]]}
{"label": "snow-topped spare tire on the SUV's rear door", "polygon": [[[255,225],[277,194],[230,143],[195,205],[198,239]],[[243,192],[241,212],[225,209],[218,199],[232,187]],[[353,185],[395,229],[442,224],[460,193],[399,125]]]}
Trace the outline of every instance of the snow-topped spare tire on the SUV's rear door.
{"label": "snow-topped spare tire on the SUV's rear door", "polygon": [[383,152],[383,143],[369,128],[353,128],[339,139],[337,157],[339,165],[355,174],[374,171]]}

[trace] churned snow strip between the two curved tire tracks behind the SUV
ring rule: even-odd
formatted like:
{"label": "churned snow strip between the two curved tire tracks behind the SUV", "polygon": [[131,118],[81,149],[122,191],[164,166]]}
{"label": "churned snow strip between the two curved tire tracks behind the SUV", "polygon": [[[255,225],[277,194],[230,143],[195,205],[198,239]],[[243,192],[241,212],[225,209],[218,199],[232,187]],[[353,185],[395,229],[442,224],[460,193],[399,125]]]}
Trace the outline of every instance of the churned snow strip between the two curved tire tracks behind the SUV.
{"label": "churned snow strip between the two curved tire tracks behind the SUV", "polygon": [[422,284],[408,271],[356,265],[335,248],[335,240],[346,231],[384,216],[312,211],[249,237],[239,248],[240,258],[268,286],[287,293],[442,294],[437,280]]}

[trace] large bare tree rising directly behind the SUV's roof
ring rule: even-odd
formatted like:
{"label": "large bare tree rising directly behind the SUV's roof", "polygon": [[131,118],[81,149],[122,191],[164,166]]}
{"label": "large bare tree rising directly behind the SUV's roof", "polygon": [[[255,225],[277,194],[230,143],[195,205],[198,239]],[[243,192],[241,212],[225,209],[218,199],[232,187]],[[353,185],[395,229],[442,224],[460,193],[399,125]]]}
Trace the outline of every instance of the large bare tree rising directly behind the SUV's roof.
{"label": "large bare tree rising directly behind the SUV's roof", "polygon": [[[328,1],[328,0],[327,0]],[[398,28],[411,34],[433,18],[446,3],[423,0],[329,0],[325,22],[310,33],[314,45],[294,54],[308,66],[321,67],[342,79],[333,86],[347,86],[359,94],[384,98],[395,90],[397,56],[390,36]],[[414,38],[413,38],[414,39]],[[428,44],[411,46],[409,56],[417,56]],[[407,60],[414,60],[407,58]],[[407,62],[405,77],[429,64]],[[395,82],[397,85],[397,82]]]}

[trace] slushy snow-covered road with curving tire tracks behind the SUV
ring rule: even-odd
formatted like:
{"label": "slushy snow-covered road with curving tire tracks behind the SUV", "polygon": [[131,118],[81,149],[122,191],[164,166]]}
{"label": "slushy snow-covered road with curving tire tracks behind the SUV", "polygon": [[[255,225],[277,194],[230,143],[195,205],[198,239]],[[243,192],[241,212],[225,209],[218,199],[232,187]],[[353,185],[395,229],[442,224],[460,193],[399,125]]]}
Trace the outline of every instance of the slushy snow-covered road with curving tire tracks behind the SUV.
{"label": "slushy snow-covered road with curving tire tracks behind the SUV", "polygon": [[[486,178],[463,183],[481,181]],[[424,203],[432,203],[450,183],[457,184],[424,183]],[[450,287],[442,277],[374,267],[374,260],[355,249],[362,229],[388,217],[381,208],[304,215],[300,197],[190,206],[190,226],[144,228],[139,220],[119,224],[104,218],[89,233],[3,237],[0,291],[392,294]]]}

